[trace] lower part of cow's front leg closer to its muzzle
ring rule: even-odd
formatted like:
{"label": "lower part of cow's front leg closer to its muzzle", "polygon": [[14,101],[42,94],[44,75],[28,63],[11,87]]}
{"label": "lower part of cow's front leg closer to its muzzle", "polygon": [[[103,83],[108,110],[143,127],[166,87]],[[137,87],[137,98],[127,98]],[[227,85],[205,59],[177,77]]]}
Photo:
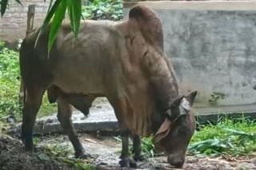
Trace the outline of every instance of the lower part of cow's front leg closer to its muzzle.
{"label": "lower part of cow's front leg closer to its muzzle", "polygon": [[135,161],[146,160],[146,156],[142,154],[142,141],[138,135],[133,136],[133,153]]}

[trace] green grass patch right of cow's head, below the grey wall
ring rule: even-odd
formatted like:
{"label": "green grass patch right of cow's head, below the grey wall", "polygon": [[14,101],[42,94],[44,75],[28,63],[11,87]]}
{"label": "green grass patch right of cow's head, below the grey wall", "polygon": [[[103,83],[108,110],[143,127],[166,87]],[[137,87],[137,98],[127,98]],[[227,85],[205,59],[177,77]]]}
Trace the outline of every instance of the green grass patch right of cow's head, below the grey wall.
{"label": "green grass patch right of cow's head, below the grey wall", "polygon": [[201,125],[188,152],[208,156],[240,156],[256,152],[256,122],[246,118],[224,119],[217,125]]}

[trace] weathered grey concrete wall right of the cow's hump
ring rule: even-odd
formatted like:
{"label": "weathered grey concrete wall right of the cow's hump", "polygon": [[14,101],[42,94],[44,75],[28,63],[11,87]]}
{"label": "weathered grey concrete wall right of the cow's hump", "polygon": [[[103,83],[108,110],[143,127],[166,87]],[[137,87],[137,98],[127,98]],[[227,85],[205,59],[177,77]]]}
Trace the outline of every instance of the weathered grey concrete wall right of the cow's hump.
{"label": "weathered grey concrete wall right of the cow's hump", "polygon": [[[124,13],[134,4],[126,2]],[[202,107],[210,106],[214,92],[224,95],[218,107],[242,105],[246,110],[255,103],[256,2],[140,4],[153,8],[162,20],[165,51],[182,93],[198,89],[197,105]]]}

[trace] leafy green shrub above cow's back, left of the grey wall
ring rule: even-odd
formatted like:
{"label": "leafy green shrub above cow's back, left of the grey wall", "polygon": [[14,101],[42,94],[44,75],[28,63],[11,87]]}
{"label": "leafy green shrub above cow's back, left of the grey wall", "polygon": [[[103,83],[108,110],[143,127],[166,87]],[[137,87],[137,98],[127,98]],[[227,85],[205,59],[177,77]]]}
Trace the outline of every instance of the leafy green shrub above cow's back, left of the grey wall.
{"label": "leafy green shrub above cow's back, left of the grey wall", "polygon": [[94,20],[121,20],[122,0],[91,0],[88,6],[82,6],[82,16]]}

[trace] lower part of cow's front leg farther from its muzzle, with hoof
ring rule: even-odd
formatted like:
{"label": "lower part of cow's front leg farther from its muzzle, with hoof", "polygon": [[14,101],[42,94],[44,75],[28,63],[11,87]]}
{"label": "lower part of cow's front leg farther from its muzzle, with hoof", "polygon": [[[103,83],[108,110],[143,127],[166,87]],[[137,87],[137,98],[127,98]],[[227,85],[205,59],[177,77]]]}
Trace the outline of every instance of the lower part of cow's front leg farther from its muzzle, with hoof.
{"label": "lower part of cow's front leg farther from its muzzle, with hoof", "polygon": [[126,168],[136,168],[137,164],[130,157],[130,153],[129,153],[129,131],[128,130],[124,130],[121,132],[121,139],[122,139],[122,154],[120,156],[121,160],[119,161],[120,166],[126,167]]}

